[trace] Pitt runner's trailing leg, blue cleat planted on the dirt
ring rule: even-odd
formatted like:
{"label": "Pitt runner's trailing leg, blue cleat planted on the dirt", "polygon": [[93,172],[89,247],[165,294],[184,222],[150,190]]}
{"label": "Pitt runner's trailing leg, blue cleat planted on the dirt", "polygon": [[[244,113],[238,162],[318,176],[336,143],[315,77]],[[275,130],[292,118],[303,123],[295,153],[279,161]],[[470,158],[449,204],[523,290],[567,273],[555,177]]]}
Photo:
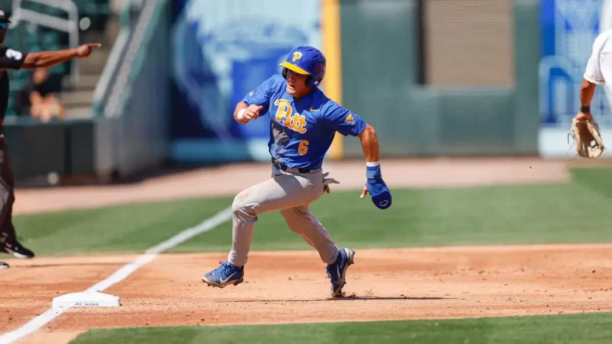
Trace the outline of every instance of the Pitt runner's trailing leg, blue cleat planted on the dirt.
{"label": "Pitt runner's trailing leg, blue cleat planted on the dirt", "polygon": [[325,227],[310,212],[309,206],[297,206],[285,209],[280,213],[289,229],[302,236],[319,252],[321,260],[327,264],[326,271],[331,282],[331,295],[332,297],[340,295],[346,284],[346,270],[353,264],[355,251],[353,249],[338,250]]}

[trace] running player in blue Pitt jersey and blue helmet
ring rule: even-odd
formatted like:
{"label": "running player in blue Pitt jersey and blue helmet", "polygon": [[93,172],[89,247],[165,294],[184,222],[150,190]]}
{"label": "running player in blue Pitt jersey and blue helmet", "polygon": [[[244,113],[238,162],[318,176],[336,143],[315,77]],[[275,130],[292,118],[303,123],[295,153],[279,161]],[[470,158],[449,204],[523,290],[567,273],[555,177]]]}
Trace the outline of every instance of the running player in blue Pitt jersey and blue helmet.
{"label": "running player in blue Pitt jersey and blue helmet", "polygon": [[232,204],[233,242],[226,261],[202,276],[209,286],[220,288],[244,281],[244,265],[250,250],[257,215],[280,211],[291,231],[314,247],[327,264],[331,294],[341,294],[346,270],[353,264],[353,249],[338,249],[327,230],[310,212],[309,204],[329,184],[338,184],[323,174],[324,155],[336,132],[357,136],[364,150],[366,178],[360,198],[369,192],[381,209],[391,205],[391,194],[381,176],[375,130],[357,114],[330,100],[318,86],[326,72],[326,59],[313,47],[297,47],[280,64],[282,75],[273,75],[249,92],[234,110],[239,123],[270,116],[269,152],[272,178],[238,193]]}

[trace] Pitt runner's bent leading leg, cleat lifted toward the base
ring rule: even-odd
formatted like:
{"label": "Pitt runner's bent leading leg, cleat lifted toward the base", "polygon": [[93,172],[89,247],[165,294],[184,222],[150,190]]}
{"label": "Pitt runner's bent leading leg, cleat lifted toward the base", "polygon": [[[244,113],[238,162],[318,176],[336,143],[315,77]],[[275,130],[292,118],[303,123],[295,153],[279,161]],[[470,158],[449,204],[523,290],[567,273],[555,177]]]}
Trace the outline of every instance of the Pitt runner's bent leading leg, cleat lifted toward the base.
{"label": "Pitt runner's bent leading leg, cleat lifted toward the base", "polygon": [[219,287],[241,283],[257,215],[311,203],[321,196],[322,182],[323,174],[320,171],[302,176],[282,173],[274,168],[271,179],[238,193],[232,204],[232,249],[228,260],[203,275],[202,280]]}

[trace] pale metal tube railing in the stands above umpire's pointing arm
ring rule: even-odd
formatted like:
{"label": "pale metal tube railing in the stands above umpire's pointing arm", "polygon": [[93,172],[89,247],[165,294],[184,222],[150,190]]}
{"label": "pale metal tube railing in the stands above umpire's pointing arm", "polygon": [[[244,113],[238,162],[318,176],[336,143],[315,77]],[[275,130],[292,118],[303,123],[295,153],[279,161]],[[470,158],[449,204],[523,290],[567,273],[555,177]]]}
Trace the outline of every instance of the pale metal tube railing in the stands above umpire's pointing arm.
{"label": "pale metal tube railing in the stands above umpire's pointing arm", "polygon": [[[21,3],[24,1],[36,2],[38,4],[64,10],[68,13],[68,19],[24,9],[21,7]],[[46,26],[47,28],[67,32],[69,34],[70,48],[78,47],[78,8],[71,0],[13,0],[13,15],[10,20],[12,26],[15,27],[19,25],[20,21],[28,21],[40,26]],[[70,81],[72,81],[72,84],[76,84],[80,74],[79,62],[78,59],[72,59],[71,62],[72,70],[70,71]]]}

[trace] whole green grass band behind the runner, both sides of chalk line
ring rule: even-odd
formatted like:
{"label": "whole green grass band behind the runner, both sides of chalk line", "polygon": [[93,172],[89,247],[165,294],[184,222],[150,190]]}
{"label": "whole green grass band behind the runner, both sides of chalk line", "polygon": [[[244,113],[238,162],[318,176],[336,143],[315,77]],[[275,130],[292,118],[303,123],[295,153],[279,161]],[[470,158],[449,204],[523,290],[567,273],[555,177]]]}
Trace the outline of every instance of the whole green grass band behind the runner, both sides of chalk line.
{"label": "whole green grass band behind the runner, both sides of chalk line", "polygon": [[[422,245],[612,242],[612,169],[573,171],[574,181],[455,189],[392,190],[383,211],[359,191],[322,196],[311,205],[338,245],[355,248]],[[333,187],[332,187],[333,189]],[[196,225],[233,197],[127,204],[87,211],[18,216],[18,236],[39,255],[144,250]],[[173,252],[226,251],[231,222]],[[277,212],[259,215],[253,250],[310,249]]]}

